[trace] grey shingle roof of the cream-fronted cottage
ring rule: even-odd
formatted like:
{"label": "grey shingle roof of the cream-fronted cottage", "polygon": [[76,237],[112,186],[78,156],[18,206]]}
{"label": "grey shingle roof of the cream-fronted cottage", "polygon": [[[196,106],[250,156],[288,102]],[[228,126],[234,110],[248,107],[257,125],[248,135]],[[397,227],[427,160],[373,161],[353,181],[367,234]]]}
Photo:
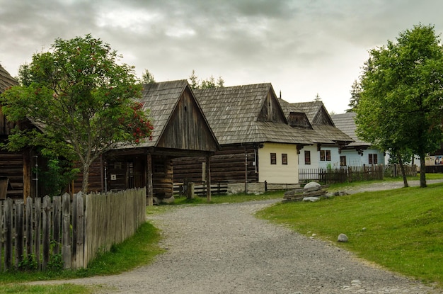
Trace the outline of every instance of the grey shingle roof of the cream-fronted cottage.
{"label": "grey shingle roof of the cream-fronted cottage", "polygon": [[[287,124],[270,83],[200,89],[194,93],[220,145],[312,144]],[[260,117],[267,107],[273,108],[275,116],[263,120]]]}

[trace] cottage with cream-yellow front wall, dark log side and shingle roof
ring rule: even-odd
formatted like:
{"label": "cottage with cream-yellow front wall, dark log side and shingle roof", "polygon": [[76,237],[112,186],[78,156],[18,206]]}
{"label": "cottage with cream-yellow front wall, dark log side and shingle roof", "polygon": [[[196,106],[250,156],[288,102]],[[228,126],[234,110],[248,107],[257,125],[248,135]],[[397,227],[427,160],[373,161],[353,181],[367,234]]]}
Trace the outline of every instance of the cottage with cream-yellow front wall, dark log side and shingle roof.
{"label": "cottage with cream-yellow front wall, dark log side and shingle roof", "polygon": [[[312,144],[287,123],[270,83],[194,91],[221,150],[211,158],[211,181],[231,192],[296,184],[298,153]],[[202,181],[205,159],[176,159],[174,180]]]}

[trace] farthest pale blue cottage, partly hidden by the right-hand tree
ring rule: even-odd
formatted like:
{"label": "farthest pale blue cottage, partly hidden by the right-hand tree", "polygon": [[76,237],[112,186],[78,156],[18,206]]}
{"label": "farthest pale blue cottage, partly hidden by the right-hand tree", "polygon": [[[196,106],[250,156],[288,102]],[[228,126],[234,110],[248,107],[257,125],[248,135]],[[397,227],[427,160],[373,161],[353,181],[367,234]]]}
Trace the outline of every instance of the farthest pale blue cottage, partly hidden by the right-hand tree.
{"label": "farthest pale blue cottage, partly hidden by the right-hand tree", "polygon": [[355,116],[357,113],[340,113],[331,115],[331,118],[340,130],[352,137],[353,142],[343,147],[340,162],[344,166],[363,166],[384,164],[384,152],[372,147],[369,142],[364,142],[357,137],[355,130]]}

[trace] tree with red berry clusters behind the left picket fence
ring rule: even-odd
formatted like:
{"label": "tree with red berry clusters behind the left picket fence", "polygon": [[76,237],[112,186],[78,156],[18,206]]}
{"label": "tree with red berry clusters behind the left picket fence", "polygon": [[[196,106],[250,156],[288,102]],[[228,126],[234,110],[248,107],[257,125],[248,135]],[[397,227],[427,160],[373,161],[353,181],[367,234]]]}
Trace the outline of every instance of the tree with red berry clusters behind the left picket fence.
{"label": "tree with red berry clusters behind the left picket fence", "polygon": [[147,113],[135,100],[142,86],[134,67],[121,64],[102,40],[58,38],[23,70],[25,82],[2,94],[2,110],[8,120],[30,121],[42,132],[19,123],[6,147],[38,146],[44,154],[79,162],[84,192],[89,168],[101,154],[151,135]]}

